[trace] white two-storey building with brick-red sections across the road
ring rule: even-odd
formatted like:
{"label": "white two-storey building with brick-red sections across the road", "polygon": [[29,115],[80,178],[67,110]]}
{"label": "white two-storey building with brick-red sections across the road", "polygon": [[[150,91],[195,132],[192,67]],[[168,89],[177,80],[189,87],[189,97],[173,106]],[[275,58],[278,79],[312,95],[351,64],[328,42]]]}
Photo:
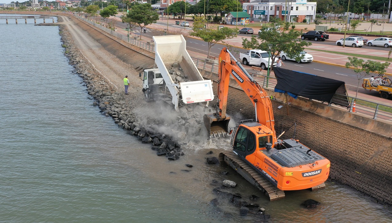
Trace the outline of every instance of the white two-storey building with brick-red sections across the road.
{"label": "white two-storey building with brick-red sections across the road", "polygon": [[304,19],[313,22],[316,16],[317,2],[307,0],[255,0],[243,4],[243,11],[250,15],[250,20],[267,21],[270,17],[278,17],[287,22],[297,18],[297,22]]}

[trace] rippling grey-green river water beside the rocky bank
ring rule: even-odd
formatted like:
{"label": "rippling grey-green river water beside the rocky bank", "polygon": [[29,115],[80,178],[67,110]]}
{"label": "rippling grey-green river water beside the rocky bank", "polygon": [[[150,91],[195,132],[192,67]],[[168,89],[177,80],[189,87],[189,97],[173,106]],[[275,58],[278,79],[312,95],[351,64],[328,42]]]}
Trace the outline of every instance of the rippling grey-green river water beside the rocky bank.
{"label": "rippling grey-green river water beside the rocky bank", "polygon": [[[0,222],[260,222],[226,199],[211,205],[223,179],[268,222],[392,222],[389,207],[329,181],[270,202],[233,170],[205,164],[227,140],[185,145],[178,161],[157,157],[93,106],[58,27],[14,22],[0,21]],[[309,198],[321,205],[301,207]]]}

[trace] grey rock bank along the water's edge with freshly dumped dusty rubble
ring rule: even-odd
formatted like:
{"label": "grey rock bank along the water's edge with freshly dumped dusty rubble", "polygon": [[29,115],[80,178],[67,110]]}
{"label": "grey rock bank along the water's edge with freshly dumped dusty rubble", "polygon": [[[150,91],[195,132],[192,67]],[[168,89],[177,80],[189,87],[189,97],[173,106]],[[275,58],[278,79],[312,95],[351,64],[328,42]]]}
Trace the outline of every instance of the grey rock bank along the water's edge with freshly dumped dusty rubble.
{"label": "grey rock bank along the water's edge with freshly dumped dusty rubble", "polygon": [[[184,155],[181,144],[207,139],[203,114],[211,113],[210,109],[206,110],[203,104],[184,105],[179,112],[172,108],[158,108],[159,104],[147,104],[145,108],[137,106],[140,105],[137,100],[129,101],[130,98],[125,98],[122,91],[118,91],[96,72],[90,62],[83,60],[82,53],[74,46],[73,39],[63,26],[60,26],[60,31],[66,45],[64,54],[68,57],[69,64],[73,65],[73,72],[83,78],[83,85],[95,99],[94,106],[98,106],[100,112],[107,117],[111,116],[120,128],[136,136],[142,143],[151,143],[152,150],[156,150],[157,155],[165,155],[170,160]],[[131,109],[132,105],[135,108]],[[154,106],[156,107],[151,108]],[[170,118],[167,118],[169,114]]]}

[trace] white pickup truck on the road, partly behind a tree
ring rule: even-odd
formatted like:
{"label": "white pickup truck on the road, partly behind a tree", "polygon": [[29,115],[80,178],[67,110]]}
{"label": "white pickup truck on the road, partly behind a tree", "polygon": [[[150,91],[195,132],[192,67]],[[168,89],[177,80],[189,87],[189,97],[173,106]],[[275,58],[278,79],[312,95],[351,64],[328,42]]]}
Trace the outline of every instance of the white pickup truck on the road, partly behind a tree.
{"label": "white pickup truck on the road, partly behind a tree", "polygon": [[[261,69],[268,69],[271,66],[272,58],[269,58],[268,52],[260,49],[250,49],[246,52],[240,53],[240,60],[244,65],[256,65]],[[272,64],[276,66],[276,62]]]}

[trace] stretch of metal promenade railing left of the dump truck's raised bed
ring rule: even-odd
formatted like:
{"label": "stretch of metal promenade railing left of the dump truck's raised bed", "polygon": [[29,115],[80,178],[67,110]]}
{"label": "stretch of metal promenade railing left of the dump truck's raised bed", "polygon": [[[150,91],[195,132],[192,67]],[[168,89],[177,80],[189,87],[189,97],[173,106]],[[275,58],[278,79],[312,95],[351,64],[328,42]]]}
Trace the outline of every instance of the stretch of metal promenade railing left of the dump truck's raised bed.
{"label": "stretch of metal promenade railing left of the dump truck's raised bed", "polygon": [[134,46],[136,46],[138,48],[145,49],[145,50],[147,50],[147,51],[149,51],[151,53],[155,53],[155,48],[154,48],[154,45],[152,45],[152,44],[147,44],[145,42],[136,40],[135,38],[127,37],[125,35],[117,33],[116,31],[114,31],[112,29],[108,29],[108,28],[106,28],[104,26],[101,26],[100,24],[97,24],[97,23],[95,23],[93,21],[85,19],[85,18],[83,18],[81,16],[77,16],[77,15],[74,15],[74,16],[76,18],[80,19],[80,20],[83,20],[83,21],[87,22],[88,24],[91,24],[91,25],[97,27],[98,29],[101,29],[102,31],[104,31],[106,33],[109,33],[113,37],[117,37],[117,38],[119,38],[119,39],[121,39],[121,40],[123,40],[125,42],[128,42],[129,44],[132,44],[132,45],[134,45]]}

